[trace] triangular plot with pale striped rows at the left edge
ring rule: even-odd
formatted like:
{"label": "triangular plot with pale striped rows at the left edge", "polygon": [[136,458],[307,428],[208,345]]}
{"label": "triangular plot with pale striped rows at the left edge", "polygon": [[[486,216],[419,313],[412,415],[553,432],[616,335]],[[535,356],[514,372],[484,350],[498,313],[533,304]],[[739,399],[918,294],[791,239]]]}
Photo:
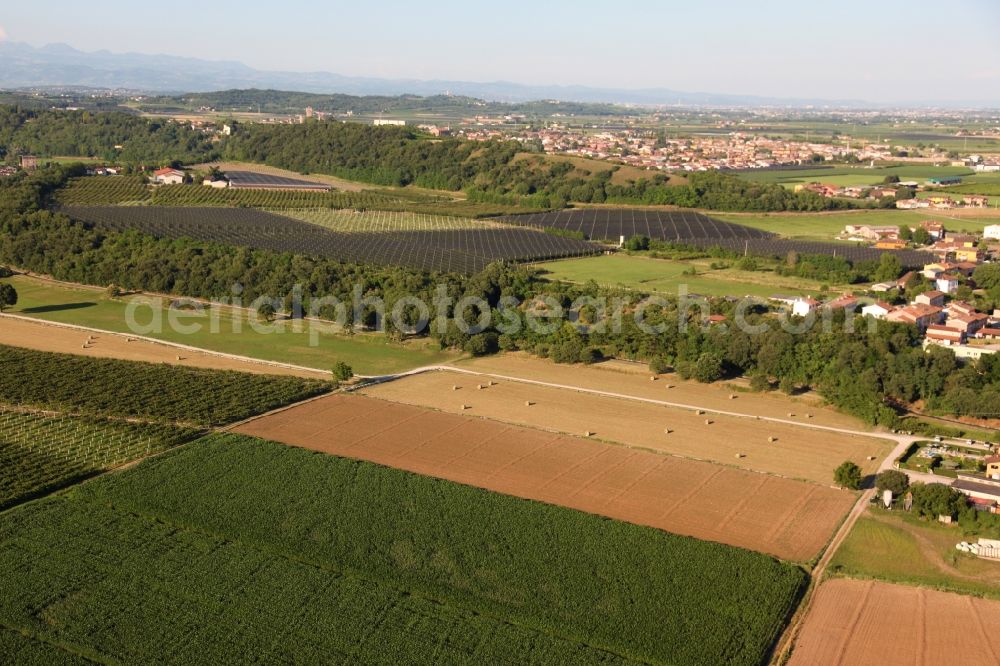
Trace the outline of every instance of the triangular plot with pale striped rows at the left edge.
{"label": "triangular plot with pale striped rows at the left edge", "polygon": [[0,406],[0,509],[165,451],[197,431]]}

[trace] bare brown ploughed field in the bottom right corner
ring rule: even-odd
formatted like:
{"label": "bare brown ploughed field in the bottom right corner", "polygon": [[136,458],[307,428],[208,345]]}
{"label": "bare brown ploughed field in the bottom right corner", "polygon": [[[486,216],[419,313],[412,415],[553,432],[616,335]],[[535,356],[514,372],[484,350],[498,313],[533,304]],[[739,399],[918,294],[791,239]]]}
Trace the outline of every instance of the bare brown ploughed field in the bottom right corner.
{"label": "bare brown ploughed field in the bottom right corner", "polygon": [[790,666],[1000,663],[1000,602],[874,581],[820,586]]}

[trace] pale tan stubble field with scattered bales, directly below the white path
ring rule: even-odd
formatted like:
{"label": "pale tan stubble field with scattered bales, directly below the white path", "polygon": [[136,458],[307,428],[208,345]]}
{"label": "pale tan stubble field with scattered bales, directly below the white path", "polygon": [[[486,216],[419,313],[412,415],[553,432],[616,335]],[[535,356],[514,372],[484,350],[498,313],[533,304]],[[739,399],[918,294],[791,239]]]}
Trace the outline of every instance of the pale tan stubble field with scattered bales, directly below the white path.
{"label": "pale tan stubble field with scattered bales, directly below the white path", "polygon": [[[364,392],[393,402],[574,436],[590,432],[591,436],[608,442],[824,486],[832,483],[834,470],[845,460],[853,460],[865,474],[871,474],[892,450],[891,442],[870,437],[711,412],[699,414],[693,409],[508,379],[496,380],[492,385],[491,381],[488,377],[453,372],[427,372],[378,384]],[[657,383],[660,382],[650,382],[648,375],[640,382],[641,385]],[[458,390],[454,390],[456,386]],[[656,393],[659,400],[675,397],[662,387]],[[729,404],[720,408],[749,407],[738,404],[738,399],[726,402]],[[782,417],[788,418],[787,413]],[[806,419],[804,411],[800,418],[814,420]]]}

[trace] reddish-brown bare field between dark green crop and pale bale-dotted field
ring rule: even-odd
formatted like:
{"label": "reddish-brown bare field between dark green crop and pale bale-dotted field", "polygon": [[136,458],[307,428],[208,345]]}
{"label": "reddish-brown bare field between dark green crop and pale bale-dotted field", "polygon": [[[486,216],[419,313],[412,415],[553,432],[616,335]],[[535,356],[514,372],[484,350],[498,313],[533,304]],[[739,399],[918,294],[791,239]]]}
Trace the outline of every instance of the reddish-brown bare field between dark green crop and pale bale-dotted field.
{"label": "reddish-brown bare field between dark green crop and pale bale-dotted field", "polygon": [[808,561],[853,493],[358,395],[235,432]]}

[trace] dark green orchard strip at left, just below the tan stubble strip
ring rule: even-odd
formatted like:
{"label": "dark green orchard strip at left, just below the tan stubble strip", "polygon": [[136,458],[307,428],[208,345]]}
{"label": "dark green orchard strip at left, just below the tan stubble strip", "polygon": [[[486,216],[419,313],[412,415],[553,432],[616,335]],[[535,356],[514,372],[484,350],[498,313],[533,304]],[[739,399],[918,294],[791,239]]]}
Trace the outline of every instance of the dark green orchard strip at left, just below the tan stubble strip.
{"label": "dark green orchard strip at left, just below the tan stubble strip", "polygon": [[215,426],[329,389],[315,379],[53,354],[0,345],[0,403]]}

